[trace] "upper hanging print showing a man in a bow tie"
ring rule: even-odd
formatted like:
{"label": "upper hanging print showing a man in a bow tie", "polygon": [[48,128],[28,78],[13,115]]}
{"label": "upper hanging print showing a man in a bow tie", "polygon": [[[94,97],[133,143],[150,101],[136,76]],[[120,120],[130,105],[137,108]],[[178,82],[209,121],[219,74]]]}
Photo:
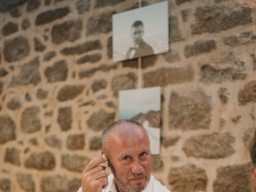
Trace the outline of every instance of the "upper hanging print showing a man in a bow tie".
{"label": "upper hanging print showing a man in a bow tie", "polygon": [[168,1],[114,14],[114,62],[168,52],[168,15]]}

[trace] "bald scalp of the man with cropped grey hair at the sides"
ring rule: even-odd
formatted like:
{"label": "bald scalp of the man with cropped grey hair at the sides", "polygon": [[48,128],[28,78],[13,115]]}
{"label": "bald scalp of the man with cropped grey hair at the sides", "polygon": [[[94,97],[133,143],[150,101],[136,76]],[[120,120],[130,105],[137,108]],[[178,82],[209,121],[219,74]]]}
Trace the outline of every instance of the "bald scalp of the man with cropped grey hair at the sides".
{"label": "bald scalp of the man with cropped grey hair at the sides", "polygon": [[[134,120],[119,120],[108,125],[102,132],[102,150],[108,153],[110,138],[118,140],[120,136],[144,136],[148,138],[148,133],[140,124]],[[149,141],[149,138],[148,138]],[[148,143],[149,144],[149,143]]]}

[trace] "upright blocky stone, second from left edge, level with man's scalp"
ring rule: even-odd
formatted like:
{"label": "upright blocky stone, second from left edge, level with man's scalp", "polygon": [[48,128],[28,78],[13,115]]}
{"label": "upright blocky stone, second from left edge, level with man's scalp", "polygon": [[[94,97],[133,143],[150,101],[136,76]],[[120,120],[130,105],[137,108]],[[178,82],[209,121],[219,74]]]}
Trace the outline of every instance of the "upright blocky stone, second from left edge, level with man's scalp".
{"label": "upright blocky stone, second from left edge, level with man's scalp", "polygon": [[41,129],[40,108],[32,106],[26,108],[21,115],[21,129],[24,133],[33,133]]}

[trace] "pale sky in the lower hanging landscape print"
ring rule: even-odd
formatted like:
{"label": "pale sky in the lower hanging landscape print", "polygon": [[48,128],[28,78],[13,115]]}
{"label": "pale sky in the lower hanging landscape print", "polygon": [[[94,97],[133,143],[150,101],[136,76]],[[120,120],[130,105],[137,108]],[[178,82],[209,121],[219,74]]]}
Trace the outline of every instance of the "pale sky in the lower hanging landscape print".
{"label": "pale sky in the lower hanging landscape print", "polygon": [[161,88],[119,91],[119,119],[130,119],[138,113],[160,110]]}

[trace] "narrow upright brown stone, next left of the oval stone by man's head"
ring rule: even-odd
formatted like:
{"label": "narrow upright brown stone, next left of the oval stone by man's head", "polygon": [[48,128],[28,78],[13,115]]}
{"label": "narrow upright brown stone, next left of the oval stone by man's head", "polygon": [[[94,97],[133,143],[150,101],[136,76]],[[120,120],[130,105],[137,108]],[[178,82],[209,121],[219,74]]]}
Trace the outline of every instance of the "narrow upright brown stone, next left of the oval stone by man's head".
{"label": "narrow upright brown stone, next left of the oval stone by man's head", "polygon": [[58,123],[62,131],[71,129],[72,124],[72,109],[71,107],[63,107],[58,110]]}

